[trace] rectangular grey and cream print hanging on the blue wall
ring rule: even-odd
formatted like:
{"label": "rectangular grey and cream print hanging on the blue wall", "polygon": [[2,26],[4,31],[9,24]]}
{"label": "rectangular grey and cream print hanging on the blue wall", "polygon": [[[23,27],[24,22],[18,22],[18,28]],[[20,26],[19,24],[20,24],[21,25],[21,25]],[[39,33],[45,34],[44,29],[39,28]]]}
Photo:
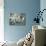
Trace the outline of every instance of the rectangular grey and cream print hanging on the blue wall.
{"label": "rectangular grey and cream print hanging on the blue wall", "polygon": [[26,15],[24,13],[10,13],[10,25],[26,25]]}

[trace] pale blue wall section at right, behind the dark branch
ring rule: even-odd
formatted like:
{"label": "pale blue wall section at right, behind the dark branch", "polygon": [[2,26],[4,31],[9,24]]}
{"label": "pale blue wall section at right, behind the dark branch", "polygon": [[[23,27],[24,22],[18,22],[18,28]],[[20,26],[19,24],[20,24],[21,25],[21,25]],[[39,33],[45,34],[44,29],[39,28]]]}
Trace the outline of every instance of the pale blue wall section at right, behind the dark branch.
{"label": "pale blue wall section at right, behind the dark branch", "polygon": [[[43,9],[46,9],[46,0],[40,0],[40,9],[41,9],[41,11],[42,11]],[[43,12],[42,17],[43,17],[43,22],[41,21],[41,22],[40,22],[40,25],[46,27],[46,11]]]}

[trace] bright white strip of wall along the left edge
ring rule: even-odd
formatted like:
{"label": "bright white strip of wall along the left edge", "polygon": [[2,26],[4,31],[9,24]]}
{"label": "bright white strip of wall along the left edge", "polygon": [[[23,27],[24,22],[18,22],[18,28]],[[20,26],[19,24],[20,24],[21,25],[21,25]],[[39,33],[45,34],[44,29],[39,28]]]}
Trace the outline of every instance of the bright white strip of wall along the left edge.
{"label": "bright white strip of wall along the left edge", "polygon": [[0,42],[4,41],[4,1],[0,0]]}

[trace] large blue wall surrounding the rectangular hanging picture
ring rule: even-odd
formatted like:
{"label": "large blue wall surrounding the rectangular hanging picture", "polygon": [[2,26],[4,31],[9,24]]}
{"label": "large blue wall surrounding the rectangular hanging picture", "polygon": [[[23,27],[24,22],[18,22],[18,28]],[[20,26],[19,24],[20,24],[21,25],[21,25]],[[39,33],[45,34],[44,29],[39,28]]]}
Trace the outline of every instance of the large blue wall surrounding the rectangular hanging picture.
{"label": "large blue wall surrounding the rectangular hanging picture", "polygon": [[[32,20],[40,9],[40,0],[4,0],[4,38],[7,41],[18,41],[32,29]],[[25,26],[10,26],[10,12],[26,14]]]}

